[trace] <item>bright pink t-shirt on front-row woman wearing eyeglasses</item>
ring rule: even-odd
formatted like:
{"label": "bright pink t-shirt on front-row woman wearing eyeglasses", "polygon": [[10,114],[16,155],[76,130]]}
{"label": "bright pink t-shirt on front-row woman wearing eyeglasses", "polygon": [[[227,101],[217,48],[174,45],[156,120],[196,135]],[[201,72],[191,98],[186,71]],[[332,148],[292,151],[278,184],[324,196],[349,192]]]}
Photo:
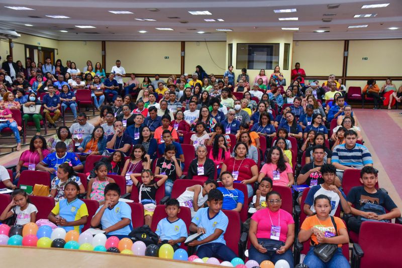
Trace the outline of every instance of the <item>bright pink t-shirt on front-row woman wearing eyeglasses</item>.
{"label": "bright pink t-shirt on front-row woman wearing eyeglasses", "polygon": [[[269,213],[269,214],[268,214]],[[269,218],[271,216],[271,218]],[[279,209],[272,212],[268,208],[260,209],[251,216],[257,222],[257,238],[270,238],[271,226],[280,226],[279,240],[285,242],[287,235],[287,225],[293,224],[294,220],[289,212]],[[271,222],[272,219],[272,222]]]}

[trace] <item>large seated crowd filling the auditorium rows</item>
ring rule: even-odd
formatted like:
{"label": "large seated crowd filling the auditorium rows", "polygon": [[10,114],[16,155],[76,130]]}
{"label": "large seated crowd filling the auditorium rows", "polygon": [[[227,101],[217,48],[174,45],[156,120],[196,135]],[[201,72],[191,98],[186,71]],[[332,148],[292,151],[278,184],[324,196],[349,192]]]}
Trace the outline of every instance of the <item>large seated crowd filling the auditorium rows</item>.
{"label": "large seated crowd filling the auditorium rows", "polygon": [[[182,231],[184,222],[176,223],[177,213],[180,206],[188,207],[192,215],[189,230],[203,233],[189,243],[197,247],[200,258],[214,256],[230,261],[236,257],[223,236],[226,231],[236,230],[226,230],[228,217],[221,209],[240,212],[245,200],[255,208],[249,211],[252,216],[244,224],[249,229],[251,242],[249,258],[259,263],[285,259],[293,266],[291,249],[298,233],[300,242],[312,241],[304,260],[307,265],[348,267],[340,249],[349,241],[348,232],[340,218],[332,217],[339,205],[343,213],[353,215],[347,221],[347,227],[353,231],[358,231],[365,220],[389,221],[400,216],[389,196],[375,189],[377,171],[370,152],[362,145],[352,107],[345,102],[346,88],[334,75],[323,86],[318,81],[306,83],[306,73],[297,63],[291,71],[292,83],[284,91],[279,66],[269,78],[261,70],[252,85],[246,69],[235,80],[233,66],[229,66],[223,80],[196,66],[191,78],[187,74],[179,79],[172,76],[165,83],[155,75],[155,80],[146,77],[140,83],[132,74],[129,83],[124,84],[122,77],[126,73],[120,61],[116,61],[109,77],[100,63],[93,67],[88,61],[83,72],[73,62],[67,62],[67,69],[59,60],[53,68],[49,64],[47,59],[42,69],[49,70],[45,76],[52,83],[43,84],[40,70],[31,63],[29,72],[15,73],[18,82],[13,82],[12,88],[18,91],[21,87],[23,95],[32,92],[29,99],[32,95],[34,103],[37,93],[48,92],[42,101],[49,126],[55,127],[61,107],[71,108],[75,122],[70,127],[60,126],[47,142],[37,133],[29,150],[22,153],[14,178],[1,166],[0,178],[6,187],[16,189],[24,170],[48,172],[49,196],[58,201],[49,220],[66,230],[81,230],[86,223],[87,209],[77,199],[86,192],[87,199],[100,204],[91,226],[102,225],[107,235],[128,236],[132,230],[131,209],[119,201],[122,189],[110,174],[126,178],[126,192],[139,192],[148,225],[157,205],[158,188],[164,187],[165,195],[170,197],[177,179],[202,179],[203,184],[188,187],[177,200],[166,203],[168,218],[159,222],[157,230],[161,242],[180,245],[187,233]],[[31,74],[33,83],[17,80],[22,73]],[[0,79],[1,76],[2,73]],[[35,82],[40,85],[32,86]],[[393,92],[387,94],[389,101],[400,101],[400,92],[395,87],[389,89],[391,85],[387,80],[387,86],[383,87],[386,92]],[[100,113],[93,124],[87,122],[84,112],[74,111],[77,89],[90,90],[96,100],[95,107]],[[15,102],[10,93],[6,92],[4,97],[11,106],[0,102],[4,118],[11,116],[10,108],[25,105]],[[136,97],[135,101],[132,96]],[[21,96],[19,99],[23,101]],[[7,119],[9,125],[10,120]],[[27,117],[26,120],[36,119]],[[336,123],[333,129],[330,129],[334,126],[331,122]],[[195,151],[187,162],[184,155],[189,156],[182,148],[185,144]],[[84,169],[91,155],[103,157],[93,169],[90,167],[88,186],[84,189],[76,172]],[[298,163],[303,164],[301,169],[297,168]],[[361,170],[363,186],[345,195],[341,185],[343,173],[348,169]],[[221,187],[217,181],[222,183]],[[234,187],[238,183],[246,185],[247,192]],[[273,190],[294,185],[310,188],[302,208],[309,217],[300,230],[295,229],[293,216],[281,209],[283,202],[291,200],[282,200],[280,193]],[[303,190],[296,191],[295,195],[302,205]],[[37,208],[29,203],[25,192],[16,190],[12,196],[13,201],[0,220],[17,214],[17,224],[34,222]],[[76,209],[73,211],[71,206]],[[384,211],[370,212],[370,206]],[[17,209],[11,210],[12,207]],[[180,232],[173,223],[180,225]],[[314,245],[319,243],[339,244],[328,263],[314,254]],[[274,246],[278,249],[272,250]]]}

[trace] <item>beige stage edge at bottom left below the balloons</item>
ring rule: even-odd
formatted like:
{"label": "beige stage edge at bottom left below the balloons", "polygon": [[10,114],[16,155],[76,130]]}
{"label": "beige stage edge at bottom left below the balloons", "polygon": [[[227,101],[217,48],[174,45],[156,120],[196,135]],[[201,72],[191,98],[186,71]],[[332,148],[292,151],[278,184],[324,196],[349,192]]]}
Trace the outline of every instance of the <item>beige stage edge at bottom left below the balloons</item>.
{"label": "beige stage edge at bottom left below the balloons", "polygon": [[[63,248],[38,248],[29,246],[0,246],[2,267],[43,268],[49,263],[58,268],[71,267],[175,267],[199,268],[201,265],[217,267],[207,263],[163,259],[121,253],[84,251]],[[159,266],[160,265],[160,266]],[[171,266],[170,266],[171,265]]]}

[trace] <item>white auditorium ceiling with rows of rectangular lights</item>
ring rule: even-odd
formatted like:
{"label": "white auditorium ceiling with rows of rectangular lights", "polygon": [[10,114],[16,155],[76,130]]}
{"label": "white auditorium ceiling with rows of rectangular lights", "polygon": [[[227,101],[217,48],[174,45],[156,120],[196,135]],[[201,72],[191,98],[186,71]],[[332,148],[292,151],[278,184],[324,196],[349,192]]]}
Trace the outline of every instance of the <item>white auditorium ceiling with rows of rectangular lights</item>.
{"label": "white auditorium ceiling with rows of rectangular lights", "polygon": [[[389,3],[389,6],[361,9],[363,5],[383,3]],[[340,4],[339,8],[328,9],[327,5],[334,4]],[[12,10],[5,6],[27,7],[34,10]],[[159,11],[153,12],[148,9]],[[274,9],[297,9],[297,12],[280,14],[274,13]],[[112,14],[109,11],[130,11],[133,14]],[[209,11],[212,15],[191,15],[188,11]],[[377,16],[353,18],[358,14],[377,14]],[[70,18],[53,19],[46,15],[62,15]],[[298,21],[278,20],[278,18],[289,17],[297,17]],[[206,22],[205,19],[223,19],[224,22]],[[332,19],[332,21],[323,22],[323,19]],[[33,25],[33,27],[25,26],[25,24]],[[76,25],[89,25],[96,28],[79,29],[75,27]],[[348,29],[348,26],[353,25],[368,25],[368,27]],[[0,28],[57,40],[225,41],[226,33],[216,29],[260,34],[283,31],[282,27],[299,28],[298,31],[294,31],[294,40],[402,38],[402,1],[0,0]],[[389,27],[399,29],[389,30]],[[172,28],[174,31],[159,31],[155,28]],[[68,32],[62,33],[60,30]],[[140,30],[147,33],[139,33]],[[330,32],[315,33],[316,30]],[[199,31],[205,33],[198,34]]]}

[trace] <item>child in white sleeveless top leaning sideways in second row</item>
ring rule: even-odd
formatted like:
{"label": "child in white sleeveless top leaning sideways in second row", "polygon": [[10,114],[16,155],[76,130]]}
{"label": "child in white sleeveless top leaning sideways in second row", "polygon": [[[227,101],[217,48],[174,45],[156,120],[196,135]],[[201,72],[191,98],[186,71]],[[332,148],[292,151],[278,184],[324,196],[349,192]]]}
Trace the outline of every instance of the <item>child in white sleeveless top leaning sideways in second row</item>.
{"label": "child in white sleeveless top leaning sideways in second row", "polygon": [[191,210],[191,218],[194,217],[195,212],[208,200],[208,193],[212,189],[216,189],[218,184],[216,181],[207,180],[204,186],[199,184],[187,187],[185,191],[177,197],[180,206],[188,207]]}

